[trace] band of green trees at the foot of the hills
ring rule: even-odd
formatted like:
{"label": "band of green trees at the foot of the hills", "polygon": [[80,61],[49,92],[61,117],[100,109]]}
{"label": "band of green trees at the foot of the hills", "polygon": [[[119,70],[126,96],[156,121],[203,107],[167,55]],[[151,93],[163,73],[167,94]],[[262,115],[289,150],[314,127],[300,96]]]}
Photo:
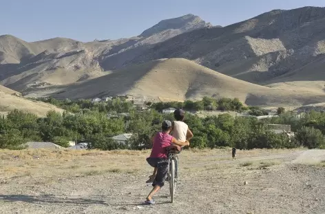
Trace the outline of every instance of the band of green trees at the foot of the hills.
{"label": "band of green trees at the foot of the hills", "polygon": [[[151,145],[152,134],[160,130],[163,119],[173,120],[173,115],[159,112],[171,103],[151,104],[150,111],[138,111],[133,104],[123,99],[94,104],[87,100],[47,102],[64,108],[63,114],[50,111],[44,118],[29,112],[13,110],[6,117],[0,117],[0,148],[21,149],[27,141],[49,141],[67,147],[69,141],[91,142],[90,148],[100,150],[143,149]],[[237,111],[259,111],[257,107],[247,107],[238,99],[213,99],[205,97],[200,101],[203,108],[232,108]],[[196,106],[198,102],[184,102],[182,108]],[[176,103],[174,103],[176,104]],[[179,104],[180,105],[180,104]],[[201,107],[202,107],[201,106]],[[218,106],[218,107],[217,107]],[[179,107],[179,106],[174,106]],[[294,112],[280,111],[279,117],[258,120],[255,117],[233,117],[222,114],[211,117],[198,117],[187,113],[185,122],[191,128],[194,137],[190,147],[218,148],[237,147],[249,150],[253,148],[308,148],[325,147],[325,114],[306,113],[297,117]],[[109,118],[111,112],[129,112],[129,117]],[[288,124],[295,136],[277,134],[266,126],[269,123]],[[133,133],[127,143],[119,144],[112,136]]]}

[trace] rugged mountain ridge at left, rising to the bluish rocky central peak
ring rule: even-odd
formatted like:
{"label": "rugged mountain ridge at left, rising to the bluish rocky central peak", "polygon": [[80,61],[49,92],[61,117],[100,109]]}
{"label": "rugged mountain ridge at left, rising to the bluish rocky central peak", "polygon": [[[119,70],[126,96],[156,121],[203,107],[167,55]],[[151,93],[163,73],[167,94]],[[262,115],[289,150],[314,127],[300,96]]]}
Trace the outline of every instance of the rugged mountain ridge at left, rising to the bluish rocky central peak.
{"label": "rugged mountain ridge at left, rising to the bluish rocky central peak", "polygon": [[[161,21],[133,38],[95,40],[82,43],[69,38],[52,38],[27,43],[14,36],[0,36],[0,84],[28,93],[30,89],[74,82],[105,75],[104,69],[121,67],[150,45],[173,36],[211,26],[188,14]],[[135,51],[129,55],[129,51]],[[127,54],[124,54],[127,52]]]}

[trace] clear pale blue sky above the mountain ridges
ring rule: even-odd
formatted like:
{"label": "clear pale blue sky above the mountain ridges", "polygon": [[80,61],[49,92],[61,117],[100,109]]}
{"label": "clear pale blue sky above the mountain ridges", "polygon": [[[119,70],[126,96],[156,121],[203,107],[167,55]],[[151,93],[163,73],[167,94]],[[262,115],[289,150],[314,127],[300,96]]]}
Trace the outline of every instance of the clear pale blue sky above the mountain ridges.
{"label": "clear pale blue sky above the mountain ridges", "polygon": [[325,7],[325,0],[0,0],[0,35],[32,42],[129,38],[163,19],[195,14],[226,26],[270,10]]}

